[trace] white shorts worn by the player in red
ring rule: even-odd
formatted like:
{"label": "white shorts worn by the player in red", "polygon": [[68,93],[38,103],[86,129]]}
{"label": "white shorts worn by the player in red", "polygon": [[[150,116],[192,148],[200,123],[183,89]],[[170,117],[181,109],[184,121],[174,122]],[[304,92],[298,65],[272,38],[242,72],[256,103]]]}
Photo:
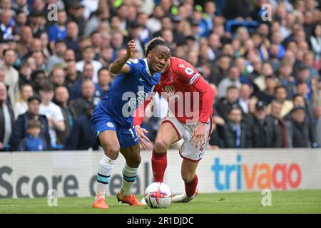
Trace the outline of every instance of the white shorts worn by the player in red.
{"label": "white shorts worn by the player in red", "polygon": [[184,142],[180,146],[180,157],[183,159],[190,160],[192,162],[198,162],[202,159],[206,148],[208,147],[208,142],[210,141],[210,134],[212,133],[212,119],[208,120],[206,125],[206,135],[208,138],[203,145],[200,145],[198,148],[192,145],[192,134],[193,130],[196,128],[197,124],[187,125],[185,123],[180,123],[175,116],[166,116],[163,120],[163,123],[170,123],[175,129],[179,140],[183,138]]}

